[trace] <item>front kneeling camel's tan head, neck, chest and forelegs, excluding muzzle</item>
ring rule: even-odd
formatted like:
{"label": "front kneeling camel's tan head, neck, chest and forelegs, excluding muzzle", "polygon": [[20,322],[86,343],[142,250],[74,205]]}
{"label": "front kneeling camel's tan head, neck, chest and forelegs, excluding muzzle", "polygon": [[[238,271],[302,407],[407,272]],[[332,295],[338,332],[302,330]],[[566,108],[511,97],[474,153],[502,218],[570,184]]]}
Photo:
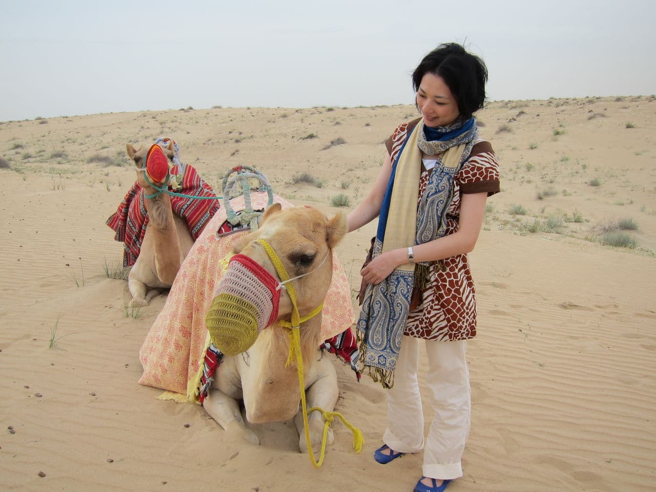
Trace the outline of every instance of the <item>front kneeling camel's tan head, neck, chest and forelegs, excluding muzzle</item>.
{"label": "front kneeling camel's tan head, neck, chest and forelegs, excluding muzzle", "polygon": [[[333,272],[331,251],[344,234],[346,219],[341,213],[329,220],[312,207],[292,207],[282,211],[279,203],[276,203],[266,210],[256,232],[237,241],[234,253],[255,260],[275,279],[279,279],[272,260],[259,241],[264,239],[281,259],[290,278],[307,274],[293,280],[298,313],[303,316],[323,302]],[[239,263],[230,262],[224,281],[233,281],[231,268],[239,268]],[[222,291],[222,283],[218,285],[217,291]],[[239,400],[243,400],[246,419],[251,423],[284,421],[296,417],[299,447],[301,451],[307,451],[302,413],[298,409],[300,391],[297,367],[295,363],[285,367],[289,354],[289,337],[288,329],[280,323],[283,319],[289,321],[292,307],[290,297],[283,289],[276,321],[261,331],[255,344],[246,352],[224,356],[216,369],[216,378],[203,400],[203,407],[222,428],[229,432],[239,432],[253,443],[259,443],[259,440],[244,424]],[[338,396],[337,375],[332,362],[323,358],[319,350],[323,342],[321,313],[302,323],[300,333],[308,408],[318,406],[332,411]],[[323,433],[323,417],[320,413],[310,415],[309,427],[312,448],[318,449]],[[329,432],[328,443],[332,441],[333,435]]]}

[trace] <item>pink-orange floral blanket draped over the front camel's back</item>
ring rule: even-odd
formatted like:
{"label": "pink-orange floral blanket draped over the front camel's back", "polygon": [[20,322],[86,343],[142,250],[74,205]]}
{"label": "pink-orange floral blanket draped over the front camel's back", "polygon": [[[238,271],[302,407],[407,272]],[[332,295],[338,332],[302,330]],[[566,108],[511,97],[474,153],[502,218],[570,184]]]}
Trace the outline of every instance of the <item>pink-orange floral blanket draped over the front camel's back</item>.
{"label": "pink-orange floral blanket draped over the front camel's back", "polygon": [[[266,193],[251,194],[253,209],[266,208],[267,199]],[[293,206],[278,195],[274,195],[274,201],[283,208]],[[230,200],[230,204],[234,210],[243,210],[243,195]],[[144,368],[139,383],[167,390],[160,398],[199,402],[209,347],[205,314],[222,277],[224,258],[232,251],[235,241],[245,234],[236,232],[217,237],[217,231],[226,232],[226,216],[226,208],[221,207],[196,239],[139,352]],[[350,283],[333,251],[333,279],[321,318],[321,335],[326,340],[323,348],[350,363],[352,368],[352,362],[358,358],[351,331],[354,321]]]}

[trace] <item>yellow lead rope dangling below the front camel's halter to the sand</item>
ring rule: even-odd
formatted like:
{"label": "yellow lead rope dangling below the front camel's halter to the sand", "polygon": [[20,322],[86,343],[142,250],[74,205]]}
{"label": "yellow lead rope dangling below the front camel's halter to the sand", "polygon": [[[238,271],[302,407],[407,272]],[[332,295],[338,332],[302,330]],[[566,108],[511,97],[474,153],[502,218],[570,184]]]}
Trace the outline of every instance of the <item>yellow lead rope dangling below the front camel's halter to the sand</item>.
{"label": "yellow lead rope dangling below the front camel's halter to the sand", "polygon": [[356,426],[348,422],[348,420],[344,419],[344,416],[339,412],[327,411],[319,407],[312,407],[310,409],[310,413],[314,411],[319,411],[321,412],[321,415],[323,415],[323,419],[325,420],[325,424],[323,425],[323,437],[321,438],[321,452],[319,453],[319,461],[316,461],[314,459],[314,451],[312,451],[312,443],[310,442],[310,430],[308,425],[308,408],[305,402],[305,382],[303,379],[303,357],[300,352],[300,331],[298,327],[295,327],[289,331],[289,341],[290,341],[289,358],[287,359],[287,365],[289,365],[289,363],[291,363],[291,361],[293,360],[294,356],[296,356],[298,384],[300,386],[300,403],[303,409],[303,426],[305,428],[305,440],[308,443],[308,455],[310,456],[310,461],[312,462],[312,465],[314,466],[314,468],[319,468],[319,466],[323,464],[323,457],[325,456],[326,441],[328,436],[328,428],[330,427],[330,424],[332,424],[333,421],[335,420],[335,417],[339,417],[339,419],[342,420],[344,425],[350,429],[350,431],[353,434],[353,449],[356,451],[356,453],[359,453],[360,451],[362,451],[362,445],[364,444],[365,440],[362,436],[362,432]]}

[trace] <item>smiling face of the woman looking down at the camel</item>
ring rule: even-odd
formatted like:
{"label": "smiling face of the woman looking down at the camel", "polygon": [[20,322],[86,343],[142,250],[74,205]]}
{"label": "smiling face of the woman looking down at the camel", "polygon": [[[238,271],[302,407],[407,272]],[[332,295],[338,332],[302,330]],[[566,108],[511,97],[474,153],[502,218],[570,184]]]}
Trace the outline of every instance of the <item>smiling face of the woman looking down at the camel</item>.
{"label": "smiling face of the woman looking down at the camel", "polygon": [[424,116],[427,127],[445,127],[459,117],[458,102],[444,79],[434,73],[426,73],[417,91],[417,106]]}

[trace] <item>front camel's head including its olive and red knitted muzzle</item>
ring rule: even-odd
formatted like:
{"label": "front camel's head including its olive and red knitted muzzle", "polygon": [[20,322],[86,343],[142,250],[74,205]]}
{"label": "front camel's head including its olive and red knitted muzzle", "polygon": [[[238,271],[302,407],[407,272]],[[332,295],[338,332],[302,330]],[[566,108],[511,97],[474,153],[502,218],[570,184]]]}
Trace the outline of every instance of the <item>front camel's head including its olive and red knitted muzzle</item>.
{"label": "front camel's head including its olive and red knitted muzzle", "polygon": [[[327,218],[314,207],[283,210],[279,203],[269,207],[258,230],[235,243],[236,255],[216,287],[206,317],[215,345],[226,355],[244,352],[262,329],[279,320],[289,321],[293,310],[290,284],[301,318],[321,305],[333,276],[332,250],[345,234],[342,213]],[[291,279],[285,289],[279,288],[282,279],[274,265],[276,258]],[[321,342],[320,323],[308,325],[316,327],[316,337],[310,342],[316,348]],[[308,336],[302,333],[304,339]]]}

